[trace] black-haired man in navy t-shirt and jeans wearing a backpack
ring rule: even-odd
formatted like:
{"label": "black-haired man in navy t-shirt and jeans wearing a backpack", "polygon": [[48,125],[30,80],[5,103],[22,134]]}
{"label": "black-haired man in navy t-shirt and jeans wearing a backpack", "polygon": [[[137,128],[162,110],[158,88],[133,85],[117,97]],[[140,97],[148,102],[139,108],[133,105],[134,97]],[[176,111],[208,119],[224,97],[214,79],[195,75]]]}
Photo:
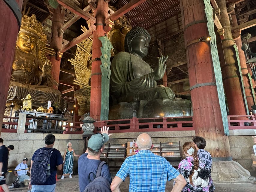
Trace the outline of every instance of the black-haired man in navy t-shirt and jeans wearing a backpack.
{"label": "black-haired man in navy t-shirt and jeans wearing a backpack", "polygon": [[[55,142],[55,136],[53,134],[48,134],[44,138],[45,147],[41,148],[43,150],[49,150],[53,148],[54,142]],[[34,155],[31,158],[31,166],[30,170],[32,170],[33,167],[33,161],[35,157],[38,155],[40,149],[36,150]],[[44,184],[37,184],[37,183],[31,183],[29,182],[29,189],[31,189],[31,192],[51,192],[55,191],[56,187],[56,173],[57,170],[62,170],[62,155],[57,149],[52,149],[50,151],[50,167],[51,167],[51,175],[49,178],[46,179],[46,182]],[[32,173],[30,173],[30,178],[33,177]]]}

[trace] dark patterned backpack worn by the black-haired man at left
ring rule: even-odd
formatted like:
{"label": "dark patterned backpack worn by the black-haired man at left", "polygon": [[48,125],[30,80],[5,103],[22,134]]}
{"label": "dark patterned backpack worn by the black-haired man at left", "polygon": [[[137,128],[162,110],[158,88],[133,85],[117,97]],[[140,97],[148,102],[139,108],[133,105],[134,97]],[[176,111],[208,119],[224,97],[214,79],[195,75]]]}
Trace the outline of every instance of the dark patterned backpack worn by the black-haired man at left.
{"label": "dark patterned backpack worn by the black-haired man at left", "polygon": [[34,158],[32,169],[31,169],[31,182],[33,184],[44,184],[46,179],[51,175],[49,173],[50,169],[50,152],[53,148],[48,150],[39,149],[38,155]]}

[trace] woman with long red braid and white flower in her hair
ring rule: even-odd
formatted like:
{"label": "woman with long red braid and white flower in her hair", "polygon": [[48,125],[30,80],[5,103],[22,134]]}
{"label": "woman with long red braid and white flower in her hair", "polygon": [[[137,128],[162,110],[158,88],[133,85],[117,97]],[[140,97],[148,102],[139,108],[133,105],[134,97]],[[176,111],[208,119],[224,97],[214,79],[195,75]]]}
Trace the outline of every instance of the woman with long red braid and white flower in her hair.
{"label": "woman with long red braid and white flower in her hair", "polygon": [[179,163],[178,171],[185,178],[187,184],[182,192],[209,192],[212,186],[209,181],[210,170],[204,161],[197,157],[194,143],[184,143],[183,153],[186,158]]}

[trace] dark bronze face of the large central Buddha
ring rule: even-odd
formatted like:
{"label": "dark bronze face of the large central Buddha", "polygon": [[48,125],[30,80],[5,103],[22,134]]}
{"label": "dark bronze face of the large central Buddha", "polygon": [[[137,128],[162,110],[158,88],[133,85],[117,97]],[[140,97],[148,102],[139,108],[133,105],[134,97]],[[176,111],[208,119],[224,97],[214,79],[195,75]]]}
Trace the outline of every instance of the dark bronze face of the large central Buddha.
{"label": "dark bronze face of the large central Buddha", "polygon": [[132,48],[131,52],[143,58],[148,54],[149,51],[149,38],[146,35],[139,33],[131,41],[130,46]]}

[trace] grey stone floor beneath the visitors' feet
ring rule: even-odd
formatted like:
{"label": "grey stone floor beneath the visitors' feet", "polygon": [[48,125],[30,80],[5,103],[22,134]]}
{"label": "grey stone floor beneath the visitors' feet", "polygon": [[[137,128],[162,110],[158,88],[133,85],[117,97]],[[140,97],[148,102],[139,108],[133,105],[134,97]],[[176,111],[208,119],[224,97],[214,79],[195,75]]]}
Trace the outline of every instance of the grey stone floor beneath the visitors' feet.
{"label": "grey stone floor beneath the visitors' feet", "polygon": [[[115,173],[112,174],[112,178],[115,176]],[[56,184],[56,192],[79,192],[78,185],[78,175],[73,175],[73,178],[65,177],[63,180],[57,181]],[[60,177],[58,177],[60,178]],[[172,189],[173,182],[167,182],[166,192]],[[253,180],[248,180],[248,182],[215,182],[215,192],[256,192],[256,184],[254,184]],[[129,189],[129,178],[125,179],[120,185],[121,192],[128,192]],[[27,187],[19,187],[10,189],[10,191],[14,192],[27,192]]]}

